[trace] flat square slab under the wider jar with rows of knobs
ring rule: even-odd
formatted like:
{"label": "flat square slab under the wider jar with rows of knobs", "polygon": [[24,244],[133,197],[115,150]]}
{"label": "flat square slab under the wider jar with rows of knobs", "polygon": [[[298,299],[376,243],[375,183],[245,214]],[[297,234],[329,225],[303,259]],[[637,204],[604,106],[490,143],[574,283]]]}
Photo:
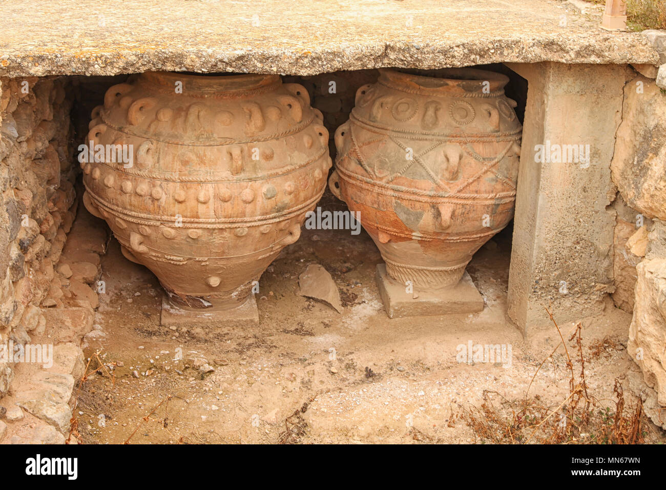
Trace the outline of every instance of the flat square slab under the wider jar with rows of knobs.
{"label": "flat square slab under the wider jar with rows of knobs", "polygon": [[257,327],[259,311],[256,299],[250,294],[247,301],[234,309],[184,309],[162,298],[163,327]]}

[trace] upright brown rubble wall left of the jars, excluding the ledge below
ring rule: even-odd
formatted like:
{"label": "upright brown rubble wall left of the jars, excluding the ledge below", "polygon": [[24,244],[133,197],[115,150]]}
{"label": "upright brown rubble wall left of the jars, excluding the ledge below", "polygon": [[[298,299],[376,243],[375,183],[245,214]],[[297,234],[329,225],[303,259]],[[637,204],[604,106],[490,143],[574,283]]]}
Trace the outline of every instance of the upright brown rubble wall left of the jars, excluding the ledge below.
{"label": "upright brown rubble wall left of the jars, excluding the ledge below", "polygon": [[[75,213],[71,97],[65,78],[0,78],[0,345],[43,331]],[[57,296],[57,293],[55,294]],[[13,365],[0,362],[0,398]]]}

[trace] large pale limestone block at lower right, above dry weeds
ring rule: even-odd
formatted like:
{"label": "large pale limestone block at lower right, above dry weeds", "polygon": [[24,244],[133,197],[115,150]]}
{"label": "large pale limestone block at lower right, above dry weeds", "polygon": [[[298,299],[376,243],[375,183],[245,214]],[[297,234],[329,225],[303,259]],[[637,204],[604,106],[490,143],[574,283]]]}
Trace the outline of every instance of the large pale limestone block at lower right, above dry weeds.
{"label": "large pale limestone block at lower right, above dry weeds", "polygon": [[645,383],[666,407],[666,259],[643,260],[629,326],[627,351],[643,371]]}

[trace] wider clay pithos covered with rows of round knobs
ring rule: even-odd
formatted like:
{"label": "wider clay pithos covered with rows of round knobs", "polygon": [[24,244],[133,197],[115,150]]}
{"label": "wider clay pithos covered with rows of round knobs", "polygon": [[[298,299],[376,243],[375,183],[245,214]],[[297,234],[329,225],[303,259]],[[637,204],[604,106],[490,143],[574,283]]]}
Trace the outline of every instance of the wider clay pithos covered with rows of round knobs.
{"label": "wider clay pithos covered with rows of round knobs", "polygon": [[92,117],[91,145],[133,162],[84,161],[85,204],[180,307],[242,305],[332,164],[321,113],[277,75],[143,73]]}

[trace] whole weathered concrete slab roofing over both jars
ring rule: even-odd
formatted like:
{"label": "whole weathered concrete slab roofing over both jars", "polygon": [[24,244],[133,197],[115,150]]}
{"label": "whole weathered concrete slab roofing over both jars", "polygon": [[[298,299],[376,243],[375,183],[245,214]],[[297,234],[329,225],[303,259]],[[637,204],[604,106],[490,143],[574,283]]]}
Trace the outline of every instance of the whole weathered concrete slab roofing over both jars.
{"label": "whole weathered concrete slab roofing over both jars", "polygon": [[601,14],[554,0],[3,0],[0,76],[659,64],[645,35],[603,31]]}

